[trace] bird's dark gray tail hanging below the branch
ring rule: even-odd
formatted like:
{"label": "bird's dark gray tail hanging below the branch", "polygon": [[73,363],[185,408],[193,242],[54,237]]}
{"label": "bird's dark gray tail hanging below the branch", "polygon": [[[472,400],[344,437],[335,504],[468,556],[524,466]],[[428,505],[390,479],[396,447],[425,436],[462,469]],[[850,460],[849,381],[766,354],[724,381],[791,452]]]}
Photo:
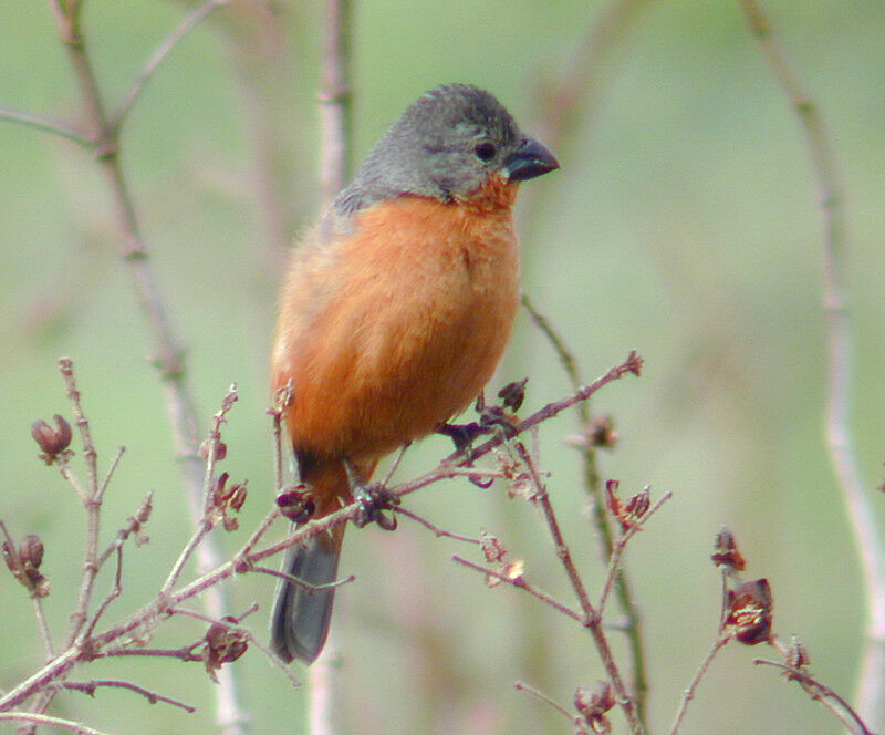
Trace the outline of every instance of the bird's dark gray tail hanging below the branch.
{"label": "bird's dark gray tail hanging below the branch", "polygon": [[[305,546],[293,546],[283,558],[282,571],[319,586],[334,582],[339,571],[344,527],[315,536]],[[335,589],[312,590],[280,580],[271,614],[270,645],[289,663],[301,659],[313,663],[320,655],[329,633]]]}

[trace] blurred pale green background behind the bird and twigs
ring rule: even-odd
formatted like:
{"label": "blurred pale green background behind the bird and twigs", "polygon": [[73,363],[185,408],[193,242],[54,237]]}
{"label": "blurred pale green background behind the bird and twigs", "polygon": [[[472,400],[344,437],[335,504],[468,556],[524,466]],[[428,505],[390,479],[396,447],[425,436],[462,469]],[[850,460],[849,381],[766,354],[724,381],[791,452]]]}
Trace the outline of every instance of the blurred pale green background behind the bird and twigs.
{"label": "blurred pale green background behind the bird and twigs", "polygon": [[[863,602],[853,541],[823,441],[825,330],[822,216],[801,128],[735,2],[637,3],[584,103],[556,141],[562,170],[532,182],[520,216],[524,287],[590,379],[636,348],[641,380],[594,403],[621,441],[601,456],[624,491],[650,484],[674,499],[631,545],[647,639],[653,732],[666,732],[711,644],[719,578],[709,561],[722,524],[749,577],[767,577],[775,630],[796,633],[815,673],[851,696]],[[91,0],[84,28],[108,106],[191,6]],[[354,12],[354,157],[421,91],[449,81],[494,92],[543,135],[545,93],[582,68],[582,39],[603,2],[375,0]],[[882,479],[885,410],[885,4],[881,0],[764,3],[830,126],[846,195],[845,290],[855,329],[852,428],[867,484]],[[240,401],[225,429],[223,469],[248,478],[243,530],[268,510],[272,459],[266,372],[279,273],[293,236],[316,215],[315,94],[320,3],[279,0],[217,11],[169,56],[123,136],[123,164],[176,330],[204,428],[228,385]],[[76,86],[49,7],[0,3],[0,106],[75,124]],[[106,467],[127,447],[107,494],[104,538],[155,493],[150,544],[127,548],[124,596],[106,620],[148,600],[190,529],[164,392],[137,308],[108,190],[82,149],[0,122],[0,517],[39,532],[52,582],[56,640],[75,599],[83,513],[54,468],[37,459],[34,418],[67,414],[56,359],[75,361]],[[528,413],[569,392],[562,370],[520,315],[493,387],[528,375]],[[592,589],[603,569],[586,520],[579,457],[563,438],[574,416],[546,423],[542,463],[573,552]],[[409,451],[408,478],[447,452]],[[79,468],[82,465],[75,465]],[[878,498],[875,499],[878,504]],[[529,580],[573,603],[534,510],[506,488],[449,483],[407,506],[448,530],[497,534]],[[282,529],[280,529],[282,532]],[[348,531],[339,593],[343,733],[570,733],[552,710],[513,690],[523,680],[570,705],[603,675],[589,636],[512,589],[489,590],[456,567],[476,550],[412,522],[396,534]],[[103,576],[98,590],[110,588]],[[258,601],[264,635],[270,578],[228,586],[232,611]],[[39,666],[30,601],[0,574],[0,686]],[[176,622],[156,636],[200,635]],[[613,636],[616,640],[616,634]],[[621,646],[618,644],[618,651]],[[835,733],[837,724],[773,670],[764,650],[726,648],[683,732]],[[304,732],[292,691],[250,652],[236,664],[253,732]],[[303,670],[296,672],[299,675]],[[94,663],[82,681],[127,677],[199,707],[186,715],[123,691],[60,695],[53,712],[110,733],[215,732],[199,664]],[[618,732],[624,732],[618,714]],[[282,724],[281,724],[282,723]],[[12,732],[10,725],[0,732]]]}

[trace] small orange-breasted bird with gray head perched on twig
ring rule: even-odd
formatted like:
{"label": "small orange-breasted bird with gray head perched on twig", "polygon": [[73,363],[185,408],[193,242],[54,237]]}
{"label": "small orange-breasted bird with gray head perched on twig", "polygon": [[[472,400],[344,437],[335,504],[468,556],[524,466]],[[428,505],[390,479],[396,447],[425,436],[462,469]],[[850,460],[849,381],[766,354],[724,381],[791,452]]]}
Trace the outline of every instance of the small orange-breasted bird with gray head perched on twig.
{"label": "small orange-breasted bird with gray head perched on twig", "polygon": [[[312,518],[351,503],[381,458],[438,431],[491,380],[520,300],[517,191],[556,168],[492,94],[438,86],[293,249],[270,372],[289,396],[281,416]],[[282,570],[306,582],[278,583],[271,649],[287,663],[323,648],[343,534],[287,550]]]}

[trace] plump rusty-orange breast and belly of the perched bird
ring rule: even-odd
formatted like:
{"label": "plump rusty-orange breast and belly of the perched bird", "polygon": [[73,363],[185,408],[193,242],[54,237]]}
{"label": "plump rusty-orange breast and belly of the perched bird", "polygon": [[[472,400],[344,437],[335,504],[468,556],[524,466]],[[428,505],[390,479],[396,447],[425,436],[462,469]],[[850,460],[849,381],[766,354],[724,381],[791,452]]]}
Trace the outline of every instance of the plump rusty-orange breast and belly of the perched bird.
{"label": "plump rusty-orange breast and belly of the perched bird", "polygon": [[379,457],[478,395],[519,302],[510,189],[506,206],[387,201],[356,235],[296,256],[273,355],[274,386],[294,390],[296,449]]}

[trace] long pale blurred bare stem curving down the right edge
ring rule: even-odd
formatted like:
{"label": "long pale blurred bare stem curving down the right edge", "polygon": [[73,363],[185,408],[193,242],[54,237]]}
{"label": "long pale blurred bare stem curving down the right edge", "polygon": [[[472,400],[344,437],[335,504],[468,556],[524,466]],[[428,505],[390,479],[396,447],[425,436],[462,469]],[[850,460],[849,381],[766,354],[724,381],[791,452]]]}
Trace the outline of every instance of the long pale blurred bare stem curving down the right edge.
{"label": "long pale blurred bare stem curving down the right edge", "polygon": [[842,499],[851,520],[866,588],[866,632],[857,710],[873,729],[885,726],[885,544],[870,487],[862,477],[848,421],[852,386],[852,327],[843,292],[845,225],[842,187],[830,134],[814,100],[805,92],[774,37],[771,22],[754,0],[739,0],[772,75],[788,97],[805,133],[820,187],[824,219],[823,300],[827,319],[829,369],[826,441]]}

